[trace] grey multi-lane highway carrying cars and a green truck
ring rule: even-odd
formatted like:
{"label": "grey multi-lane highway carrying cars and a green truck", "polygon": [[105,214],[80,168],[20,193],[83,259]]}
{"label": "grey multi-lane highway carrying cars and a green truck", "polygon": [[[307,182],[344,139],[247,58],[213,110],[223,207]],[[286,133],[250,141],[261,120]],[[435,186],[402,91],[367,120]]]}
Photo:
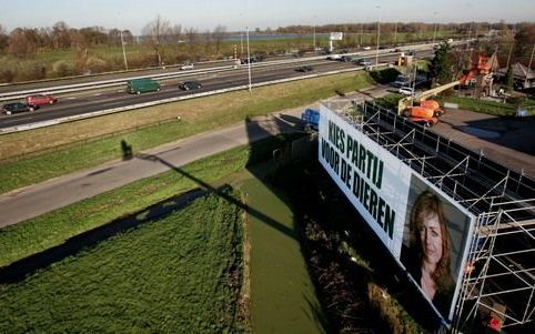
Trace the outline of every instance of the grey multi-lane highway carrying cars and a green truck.
{"label": "grey multi-lane highway carrying cars and a green truck", "polygon": [[[427,49],[430,49],[428,47]],[[381,63],[391,63],[396,59],[400,53],[393,53],[392,50],[380,50],[380,62]],[[351,54],[351,53],[350,53]],[[425,54],[431,54],[426,52]],[[423,57],[424,53],[418,53],[418,57]],[[317,74],[317,73],[325,73],[331,71],[337,70],[349,70],[349,69],[362,69],[362,67],[355,65],[354,62],[341,62],[341,61],[333,61],[326,60],[326,57],[312,57],[312,58],[286,58],[286,60],[277,60],[277,61],[265,61],[255,63],[252,65],[251,69],[251,82],[261,83],[261,82],[269,82],[273,80],[286,79],[286,78],[299,78],[307,74]],[[360,55],[354,55],[355,59],[365,58],[369,59],[372,63],[375,60],[375,51],[365,51],[361,52]],[[312,72],[301,73],[295,71],[297,67],[301,64],[309,64],[313,67]],[[221,63],[214,64],[203,64],[205,70],[199,72],[199,68],[196,67],[193,71],[181,71],[180,78],[173,79],[164,79],[159,80],[162,83],[162,90],[160,92],[153,93],[144,93],[140,95],[135,94],[128,94],[125,92],[125,82],[120,87],[101,89],[98,91],[82,91],[78,93],[71,93],[69,95],[60,95],[57,97],[60,99],[60,102],[53,105],[44,105],[37,111],[33,112],[24,112],[18,113],[12,115],[0,115],[0,129],[7,129],[11,126],[20,126],[30,123],[37,122],[44,122],[51,121],[60,118],[72,117],[72,115],[80,115],[90,112],[95,112],[105,109],[112,108],[121,108],[128,107],[144,102],[158,101],[158,100],[165,100],[170,98],[176,97],[185,97],[192,93],[200,93],[200,92],[209,92],[214,90],[228,89],[232,87],[240,87],[246,85],[249,83],[248,77],[248,67],[240,65],[236,69],[233,69],[229,65],[229,70],[225,71],[216,71],[211,69],[221,69]],[[153,70],[151,70],[153,71]],[[161,70],[166,71],[166,70]],[[160,74],[164,72],[159,72]],[[172,70],[172,72],[176,72],[176,68]],[[152,73],[152,72],[150,72]],[[124,79],[132,78],[132,73],[128,73],[129,77],[124,77]],[[119,74],[113,74],[119,75]],[[125,75],[122,73],[120,75]],[[138,73],[135,72],[135,77],[139,75],[147,75],[145,72]],[[101,77],[92,78],[93,80],[103,80]],[[88,78],[80,78],[80,79],[70,79],[70,84],[80,83],[83,80],[88,80]],[[105,80],[110,80],[109,77]],[[194,80],[199,81],[203,84],[203,88],[195,91],[181,91],[178,88],[178,83],[185,81],[185,80]],[[11,91],[21,91],[28,90],[30,87],[33,89],[40,85],[42,90],[52,90],[53,87],[50,85],[51,82],[42,82],[42,83],[31,83],[28,85],[12,85],[9,87]],[[65,82],[61,82],[62,85],[65,85]],[[58,85],[54,82],[54,85]],[[13,88],[17,88],[13,90]],[[2,87],[0,91],[6,93],[7,87]]]}

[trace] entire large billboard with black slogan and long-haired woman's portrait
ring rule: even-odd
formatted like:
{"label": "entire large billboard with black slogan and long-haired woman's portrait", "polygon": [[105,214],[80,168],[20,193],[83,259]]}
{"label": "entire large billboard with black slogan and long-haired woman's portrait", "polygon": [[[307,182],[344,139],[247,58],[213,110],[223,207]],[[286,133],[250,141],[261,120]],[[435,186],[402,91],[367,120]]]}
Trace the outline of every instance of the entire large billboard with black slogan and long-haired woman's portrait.
{"label": "entire large billboard with black slogan and long-haired woman's portrait", "polygon": [[323,104],[319,160],[433,310],[451,321],[474,215]]}

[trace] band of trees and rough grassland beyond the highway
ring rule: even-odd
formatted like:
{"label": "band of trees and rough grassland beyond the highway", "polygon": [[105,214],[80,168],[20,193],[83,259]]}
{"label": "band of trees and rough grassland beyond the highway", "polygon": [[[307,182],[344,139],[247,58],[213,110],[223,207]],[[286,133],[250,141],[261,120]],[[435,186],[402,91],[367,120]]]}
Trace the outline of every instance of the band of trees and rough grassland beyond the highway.
{"label": "band of trees and rough grassland beyond the highway", "polygon": [[[377,22],[289,26],[276,29],[254,29],[255,34],[296,34],[283,42],[252,44],[253,52],[284,52],[312,50],[311,34],[344,32],[339,48],[356,48],[377,43]],[[534,23],[423,23],[380,22],[380,44],[394,45],[422,40],[436,41],[446,38],[476,38],[497,31],[499,50],[511,50],[509,59],[527,63],[535,39]],[[134,36],[130,30],[103,27],[75,29],[65,22],[47,28],[16,28],[8,32],[0,24],[0,82],[39,80],[54,77],[79,75],[144,67],[162,67],[184,61],[242,57],[240,42],[225,42],[229,34],[223,26],[199,31],[184,28],[158,16]],[[326,45],[325,36],[317,38],[317,45]],[[481,48],[493,49],[493,42]],[[236,45],[238,44],[238,45]],[[128,57],[121,50],[127,49]],[[492,51],[492,50],[491,50]],[[46,55],[49,54],[49,55]],[[502,57],[503,58],[503,57]]]}

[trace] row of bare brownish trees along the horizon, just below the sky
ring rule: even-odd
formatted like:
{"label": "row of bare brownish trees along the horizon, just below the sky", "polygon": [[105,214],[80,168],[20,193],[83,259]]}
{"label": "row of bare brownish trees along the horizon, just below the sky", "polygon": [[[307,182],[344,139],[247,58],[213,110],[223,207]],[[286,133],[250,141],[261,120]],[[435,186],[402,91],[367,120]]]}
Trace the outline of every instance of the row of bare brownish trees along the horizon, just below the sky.
{"label": "row of bare brownish trees along the horizon, just below the sky", "polygon": [[[503,33],[508,31],[525,31],[533,23],[507,24],[505,22],[465,22],[465,23],[423,23],[423,22],[381,22],[381,32],[392,33],[436,33],[436,31],[448,31],[457,36],[474,37],[486,33],[491,30],[498,30]],[[346,23],[346,24],[323,24],[323,26],[289,26],[275,30],[256,28],[256,33],[279,34],[310,34],[329,33],[341,31],[345,33],[375,33],[377,23]],[[122,34],[122,36],[121,36]],[[36,52],[63,50],[68,48],[94,47],[94,45],[119,45],[121,41],[133,43],[144,41],[151,45],[176,44],[182,41],[212,42],[219,52],[222,41],[226,36],[226,29],[222,26],[215,27],[213,31],[199,32],[194,28],[182,29],[180,24],[172,24],[170,21],[157,17],[142,29],[142,37],[134,39],[130,30],[117,28],[105,29],[103,27],[88,27],[81,29],[70,28],[65,22],[57,22],[51,28],[17,28],[7,32],[0,24],[0,52],[17,55],[31,54]],[[155,48],[157,49],[157,48]]]}

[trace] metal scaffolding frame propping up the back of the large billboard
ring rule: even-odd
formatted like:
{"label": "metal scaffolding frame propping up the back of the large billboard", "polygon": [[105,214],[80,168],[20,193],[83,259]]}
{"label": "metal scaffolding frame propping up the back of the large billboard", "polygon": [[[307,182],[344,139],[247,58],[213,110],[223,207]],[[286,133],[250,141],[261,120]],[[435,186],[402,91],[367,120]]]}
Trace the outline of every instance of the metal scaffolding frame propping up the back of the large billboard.
{"label": "metal scaffolding frame propping up the back of the large billboard", "polygon": [[535,181],[373,102],[324,104],[476,216],[453,332],[534,322]]}

